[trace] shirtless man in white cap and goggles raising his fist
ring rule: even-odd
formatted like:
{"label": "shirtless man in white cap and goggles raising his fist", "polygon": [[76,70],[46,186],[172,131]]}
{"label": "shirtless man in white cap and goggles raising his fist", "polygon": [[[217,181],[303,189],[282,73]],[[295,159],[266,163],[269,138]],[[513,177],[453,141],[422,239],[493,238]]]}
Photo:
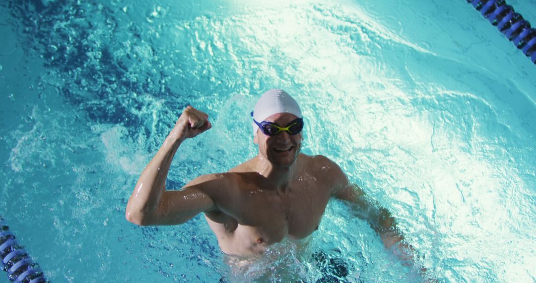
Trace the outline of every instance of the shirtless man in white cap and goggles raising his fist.
{"label": "shirtless man in white cap and goggles raising his fist", "polygon": [[222,251],[256,256],[286,238],[309,236],[334,197],[352,203],[386,247],[399,243],[408,250],[389,212],[364,198],[336,163],[300,153],[302,115],[290,95],[267,91],[252,116],[259,148],[255,158],[226,173],[199,176],[179,191],[167,191],[169,166],[182,142],[212,126],[207,114],[191,106],[184,109],[143,170],[126,206],[126,219],[142,226],[177,225],[203,212]]}

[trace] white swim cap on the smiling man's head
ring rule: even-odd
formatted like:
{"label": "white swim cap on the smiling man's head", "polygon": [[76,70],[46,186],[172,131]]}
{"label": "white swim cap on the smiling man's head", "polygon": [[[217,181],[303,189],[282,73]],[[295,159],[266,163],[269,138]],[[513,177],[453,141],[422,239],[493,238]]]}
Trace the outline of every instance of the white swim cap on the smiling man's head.
{"label": "white swim cap on the smiling man's head", "polygon": [[[302,117],[300,106],[290,94],[284,90],[272,88],[260,96],[253,110],[253,118],[257,122],[262,122],[267,117],[277,113],[290,113],[296,115],[298,118]],[[254,136],[258,128],[257,124],[253,122]]]}

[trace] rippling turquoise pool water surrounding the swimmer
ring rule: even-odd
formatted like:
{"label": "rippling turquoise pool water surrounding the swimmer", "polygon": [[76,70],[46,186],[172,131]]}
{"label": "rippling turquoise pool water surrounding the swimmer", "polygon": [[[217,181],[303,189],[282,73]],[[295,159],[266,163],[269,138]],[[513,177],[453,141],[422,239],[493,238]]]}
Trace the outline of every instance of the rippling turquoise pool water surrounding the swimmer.
{"label": "rippling turquoise pool water surrounding the swimmer", "polygon": [[[536,23],[536,2],[508,2]],[[254,156],[249,112],[272,87],[301,103],[303,152],[387,207],[434,277],[536,278],[536,68],[465,1],[0,6],[0,214],[51,281],[228,276],[202,216],[142,228],[124,208],[188,104],[213,129],[183,144],[168,188]],[[321,278],[286,248],[243,275]],[[319,250],[348,281],[420,280],[337,202]]]}

